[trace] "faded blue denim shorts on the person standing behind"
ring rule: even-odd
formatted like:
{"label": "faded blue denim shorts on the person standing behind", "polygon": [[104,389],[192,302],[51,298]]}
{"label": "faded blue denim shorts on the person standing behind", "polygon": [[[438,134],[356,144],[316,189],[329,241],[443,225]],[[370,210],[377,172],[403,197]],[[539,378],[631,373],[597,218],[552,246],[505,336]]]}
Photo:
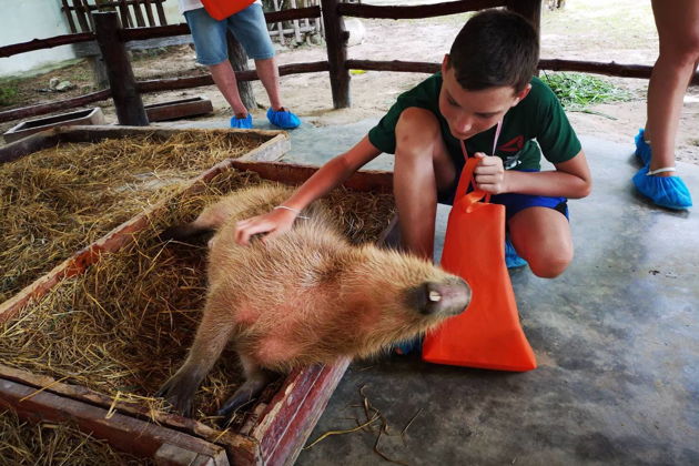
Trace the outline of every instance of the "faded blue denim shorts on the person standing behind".
{"label": "faded blue denim shorts on the person standing behind", "polygon": [[274,45],[260,3],[253,3],[221,21],[211,18],[203,8],[185,11],[184,18],[192,31],[196,61],[201,64],[211,67],[229,59],[226,29],[231,30],[251,59],[265,60],[274,57]]}

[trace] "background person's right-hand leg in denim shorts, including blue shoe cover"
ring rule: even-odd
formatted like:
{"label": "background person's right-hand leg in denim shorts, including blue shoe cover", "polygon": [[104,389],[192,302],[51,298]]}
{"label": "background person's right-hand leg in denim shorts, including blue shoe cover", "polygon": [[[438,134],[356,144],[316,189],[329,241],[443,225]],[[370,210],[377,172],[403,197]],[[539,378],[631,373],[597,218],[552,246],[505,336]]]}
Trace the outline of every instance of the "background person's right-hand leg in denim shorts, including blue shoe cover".
{"label": "background person's right-hand leg in denim shorts, including blue shoe cover", "polygon": [[245,49],[250,58],[255,60],[255,70],[267,97],[270,109],[267,119],[276,126],[293,129],[301,120],[282,104],[280,73],[274,59],[274,45],[270,39],[262,6],[253,3],[243,11],[227,19],[231,32]]}

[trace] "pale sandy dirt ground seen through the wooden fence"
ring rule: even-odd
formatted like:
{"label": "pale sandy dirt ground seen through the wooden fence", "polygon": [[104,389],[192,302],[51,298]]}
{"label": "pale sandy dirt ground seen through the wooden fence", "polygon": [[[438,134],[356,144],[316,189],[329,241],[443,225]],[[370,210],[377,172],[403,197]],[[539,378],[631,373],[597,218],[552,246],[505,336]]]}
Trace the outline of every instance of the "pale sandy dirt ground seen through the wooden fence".
{"label": "pale sandy dirt ground seen through the wooden fence", "polygon": [[[407,3],[409,3],[408,0]],[[372,1],[372,3],[382,3]],[[406,4],[406,1],[401,1]],[[614,4],[610,4],[614,3]],[[361,43],[348,49],[352,59],[407,60],[439,62],[463,26],[466,14],[425,20],[352,20],[361,22],[363,31],[353,39]],[[351,29],[351,31],[354,29]],[[278,44],[277,44],[278,45]],[[568,0],[565,9],[545,8],[541,20],[541,58],[578,59],[600,62],[616,61],[651,65],[657,58],[657,33],[649,2],[620,0]],[[278,45],[278,64],[326,60],[323,45],[302,45],[295,49]],[[189,45],[171,47],[134,54],[132,61],[136,79],[172,78],[205,73],[194,61]],[[251,62],[251,67],[253,63]],[[53,77],[69,79],[77,88],[65,93],[41,91]],[[395,98],[412,88],[425,74],[367,71],[353,73],[351,84],[352,108],[333,110],[327,73],[306,73],[282,77],[284,104],[314,125],[351,123],[381,116]],[[569,112],[579,134],[592,134],[615,142],[631,142],[646,116],[647,80],[605,78],[632,92],[628,102],[594,105],[585,112]],[[253,83],[259,109],[253,116],[265,121],[269,100],[260,82]],[[47,100],[67,99],[94,91],[92,74],[87,62],[23,79],[19,99],[7,110]],[[175,92],[161,92],[143,97],[145,103],[163,102],[184,97],[206,95],[212,100],[214,114],[209,119],[225,119],[231,110],[215,87]],[[115,121],[111,101],[100,102],[108,121]],[[4,132],[18,122],[0,124]],[[677,159],[699,164],[699,88],[690,88],[685,98],[677,138]]]}

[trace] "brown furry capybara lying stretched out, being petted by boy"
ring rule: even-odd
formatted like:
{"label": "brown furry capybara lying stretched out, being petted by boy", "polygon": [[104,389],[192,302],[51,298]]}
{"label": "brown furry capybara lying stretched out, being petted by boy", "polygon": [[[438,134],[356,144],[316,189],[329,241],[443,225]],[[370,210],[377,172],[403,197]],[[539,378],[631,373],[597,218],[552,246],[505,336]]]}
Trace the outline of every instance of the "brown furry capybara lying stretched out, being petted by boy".
{"label": "brown furry capybara lying stretched out, being petted by boy", "polygon": [[372,355],[463,312],[470,301],[462,278],[427,261],[350,244],[322,200],[282,235],[246,246],[234,241],[236,221],[269,212],[291,192],[277,184],[244,189],[169,232],[216,232],[202,322],[183,366],[159,392],[185,415],[231,340],[245,383],[220,415],[255,396],[274,373]]}

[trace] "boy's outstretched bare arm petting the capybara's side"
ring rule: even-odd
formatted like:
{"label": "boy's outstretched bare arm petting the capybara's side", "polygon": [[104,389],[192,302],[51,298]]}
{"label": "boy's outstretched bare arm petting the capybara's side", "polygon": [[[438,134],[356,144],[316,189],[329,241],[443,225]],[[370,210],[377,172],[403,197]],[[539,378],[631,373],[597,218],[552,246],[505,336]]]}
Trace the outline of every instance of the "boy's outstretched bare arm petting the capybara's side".
{"label": "boy's outstretched bare arm petting the capybara's side", "polygon": [[378,154],[381,151],[369,142],[368,136],[364,136],[347,152],[327,161],[284,201],[282,205],[292,210],[275,209],[266,214],[237,222],[235,241],[239,244],[247,244],[254,234],[267,233],[265,237],[270,239],[288,231],[298,212],[342,184],[350,175]]}

